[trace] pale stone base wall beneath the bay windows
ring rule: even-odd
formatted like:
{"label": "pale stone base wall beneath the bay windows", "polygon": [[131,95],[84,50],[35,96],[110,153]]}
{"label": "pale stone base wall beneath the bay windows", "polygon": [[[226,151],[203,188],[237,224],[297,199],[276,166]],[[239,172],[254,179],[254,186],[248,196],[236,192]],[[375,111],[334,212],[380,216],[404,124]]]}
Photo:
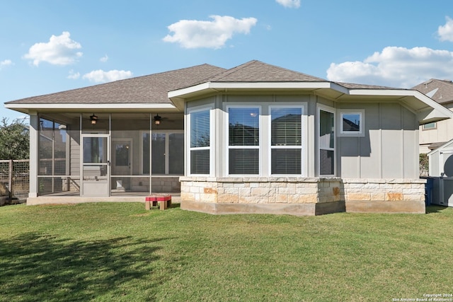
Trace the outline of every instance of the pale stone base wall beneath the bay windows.
{"label": "pale stone base wall beneath the bay windows", "polygon": [[181,177],[181,208],[212,214],[344,211],[340,178]]}

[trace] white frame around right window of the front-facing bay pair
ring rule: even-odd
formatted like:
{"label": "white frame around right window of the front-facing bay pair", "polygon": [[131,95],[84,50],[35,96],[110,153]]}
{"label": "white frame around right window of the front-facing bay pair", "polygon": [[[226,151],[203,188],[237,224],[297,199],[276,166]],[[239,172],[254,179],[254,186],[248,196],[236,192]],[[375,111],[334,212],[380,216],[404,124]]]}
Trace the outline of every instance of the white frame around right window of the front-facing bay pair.
{"label": "white frame around right window of the front-facing bay pair", "polygon": [[[301,108],[301,145],[300,146],[273,146],[272,145],[272,109],[273,108]],[[306,141],[306,103],[298,103],[297,105],[269,105],[268,106],[268,170],[269,175],[272,176],[304,176],[306,175],[306,151],[305,151],[305,141]],[[272,173],[272,150],[273,149],[300,149],[301,151],[301,173],[300,174],[273,174]]]}

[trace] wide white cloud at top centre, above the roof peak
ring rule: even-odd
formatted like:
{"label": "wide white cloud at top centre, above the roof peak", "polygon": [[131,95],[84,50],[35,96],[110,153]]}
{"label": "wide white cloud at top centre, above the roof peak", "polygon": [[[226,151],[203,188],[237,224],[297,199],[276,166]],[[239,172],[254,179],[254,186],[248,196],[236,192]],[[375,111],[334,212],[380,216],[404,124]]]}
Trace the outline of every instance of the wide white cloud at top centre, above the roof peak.
{"label": "wide white cloud at top centre, above the roof peak", "polygon": [[181,20],[168,26],[173,35],[165,42],[177,42],[184,48],[220,48],[234,33],[250,33],[256,18],[236,19],[230,16],[210,16],[212,21]]}

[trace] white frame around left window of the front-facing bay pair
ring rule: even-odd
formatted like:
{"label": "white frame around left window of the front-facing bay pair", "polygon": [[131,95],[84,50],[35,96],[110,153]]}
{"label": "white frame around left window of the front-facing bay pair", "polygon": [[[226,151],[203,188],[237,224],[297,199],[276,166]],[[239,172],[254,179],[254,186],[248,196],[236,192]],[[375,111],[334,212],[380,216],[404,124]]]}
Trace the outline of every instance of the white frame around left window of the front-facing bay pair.
{"label": "white frame around left window of the front-facing bay pair", "polygon": [[[262,160],[261,160],[261,154],[262,153],[262,150],[261,150],[261,146],[263,146],[263,115],[262,115],[262,108],[260,105],[234,105],[234,104],[229,104],[229,105],[225,105],[224,106],[225,108],[225,112],[226,112],[226,115],[225,115],[225,122],[224,122],[224,129],[225,129],[225,132],[224,132],[224,135],[225,135],[225,140],[224,140],[224,144],[226,146],[226,165],[225,165],[225,169],[226,169],[226,175],[228,176],[231,176],[231,177],[241,177],[241,176],[260,176],[261,173],[262,173]],[[258,146],[229,146],[229,109],[230,108],[258,108],[258,122],[259,122],[259,126],[258,126],[258,131],[259,131],[259,134],[258,134],[258,139],[260,140],[259,141],[259,144]],[[258,149],[258,174],[231,174],[229,173],[229,150],[230,149],[251,149],[251,150],[256,150]]]}

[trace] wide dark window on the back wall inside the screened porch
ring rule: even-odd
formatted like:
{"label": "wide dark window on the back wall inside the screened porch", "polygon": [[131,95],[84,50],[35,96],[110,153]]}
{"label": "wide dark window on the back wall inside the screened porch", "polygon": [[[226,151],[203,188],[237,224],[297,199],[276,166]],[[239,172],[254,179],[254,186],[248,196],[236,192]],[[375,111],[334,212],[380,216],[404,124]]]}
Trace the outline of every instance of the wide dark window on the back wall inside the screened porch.
{"label": "wide dark window on the back wall inside the screened porch", "polygon": [[[149,174],[149,132],[142,134],[143,174]],[[153,131],[151,134],[152,175],[184,174],[184,133]]]}

